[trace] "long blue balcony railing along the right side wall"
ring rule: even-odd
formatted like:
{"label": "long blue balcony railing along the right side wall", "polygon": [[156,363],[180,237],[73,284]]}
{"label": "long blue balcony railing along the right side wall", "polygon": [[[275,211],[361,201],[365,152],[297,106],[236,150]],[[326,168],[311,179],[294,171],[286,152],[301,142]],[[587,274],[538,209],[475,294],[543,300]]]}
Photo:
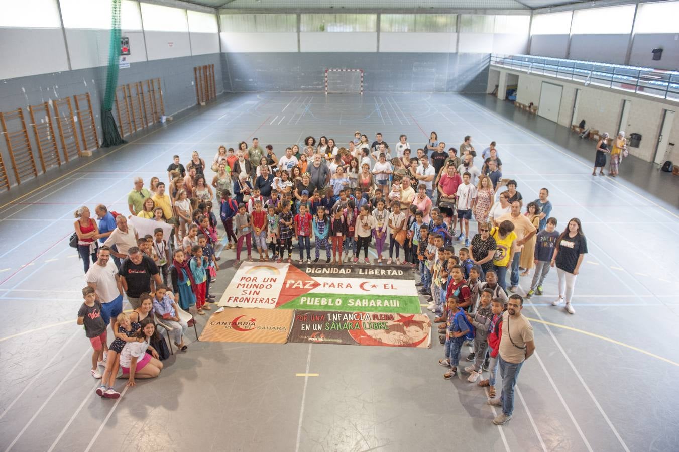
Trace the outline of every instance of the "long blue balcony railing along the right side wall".
{"label": "long blue balcony railing along the right side wall", "polygon": [[679,102],[679,71],[532,55],[492,54],[490,64]]}

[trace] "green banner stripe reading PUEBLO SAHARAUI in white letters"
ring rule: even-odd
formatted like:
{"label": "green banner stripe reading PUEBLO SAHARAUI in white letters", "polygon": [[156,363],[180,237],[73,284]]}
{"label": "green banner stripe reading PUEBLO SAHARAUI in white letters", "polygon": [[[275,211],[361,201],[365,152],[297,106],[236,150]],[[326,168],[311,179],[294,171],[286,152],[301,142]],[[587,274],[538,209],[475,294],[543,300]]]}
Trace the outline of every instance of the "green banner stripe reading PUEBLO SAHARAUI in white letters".
{"label": "green banner stripe reading PUEBLO SAHARAUI in white letters", "polygon": [[310,293],[297,297],[280,309],[313,309],[316,311],[391,312],[393,314],[421,314],[418,297],[376,297],[365,295],[338,295],[335,293]]}

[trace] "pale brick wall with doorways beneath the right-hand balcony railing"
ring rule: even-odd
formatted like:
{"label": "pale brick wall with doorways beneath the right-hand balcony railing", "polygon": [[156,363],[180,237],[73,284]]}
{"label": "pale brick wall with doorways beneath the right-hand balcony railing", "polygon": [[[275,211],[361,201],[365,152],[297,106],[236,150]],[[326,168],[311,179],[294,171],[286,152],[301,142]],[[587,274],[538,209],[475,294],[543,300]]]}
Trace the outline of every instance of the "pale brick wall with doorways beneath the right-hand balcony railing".
{"label": "pale brick wall with doorways beneath the right-hand balcony railing", "polygon": [[[506,71],[493,67],[493,70]],[[575,90],[581,90],[580,103],[578,106],[578,117],[576,121],[585,119],[587,127],[598,129],[600,132],[616,134],[620,121],[623,100],[631,102],[627,124],[623,125],[627,136],[631,133],[642,134],[640,147],[630,147],[629,153],[636,155],[647,162],[653,161],[655,156],[655,146],[660,132],[660,124],[663,118],[663,110],[669,109],[679,113],[677,102],[661,102],[643,98],[640,95],[623,94],[617,90],[599,88],[593,86],[583,86],[581,83],[571,83],[555,77],[545,77],[526,73],[514,73],[519,77],[517,102],[528,105],[534,102],[538,105],[540,99],[540,85],[542,81],[549,81],[564,87],[562,94],[561,107],[557,123],[570,128],[571,113],[575,99]],[[672,126],[672,134],[669,141],[678,143],[679,140],[679,114],[675,115]],[[674,162],[679,162],[679,149],[674,149],[670,157]]]}

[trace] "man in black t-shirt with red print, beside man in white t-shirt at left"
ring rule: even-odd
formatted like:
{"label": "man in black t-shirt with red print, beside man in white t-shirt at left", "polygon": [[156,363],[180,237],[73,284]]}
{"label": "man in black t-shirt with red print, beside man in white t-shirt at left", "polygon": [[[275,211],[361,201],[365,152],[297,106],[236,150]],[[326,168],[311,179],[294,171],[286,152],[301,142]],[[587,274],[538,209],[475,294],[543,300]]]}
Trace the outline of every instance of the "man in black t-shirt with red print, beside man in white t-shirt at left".
{"label": "man in black t-shirt with red print, beside man in white t-shirt at left", "polygon": [[118,274],[133,309],[139,307],[141,294],[152,293],[156,286],[162,284],[158,265],[136,246],[128,250],[128,257],[120,265]]}

